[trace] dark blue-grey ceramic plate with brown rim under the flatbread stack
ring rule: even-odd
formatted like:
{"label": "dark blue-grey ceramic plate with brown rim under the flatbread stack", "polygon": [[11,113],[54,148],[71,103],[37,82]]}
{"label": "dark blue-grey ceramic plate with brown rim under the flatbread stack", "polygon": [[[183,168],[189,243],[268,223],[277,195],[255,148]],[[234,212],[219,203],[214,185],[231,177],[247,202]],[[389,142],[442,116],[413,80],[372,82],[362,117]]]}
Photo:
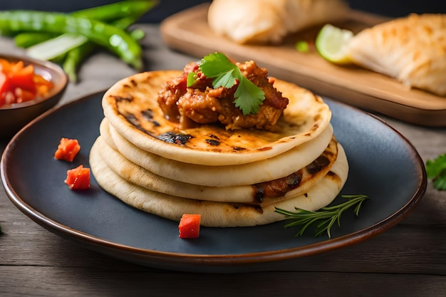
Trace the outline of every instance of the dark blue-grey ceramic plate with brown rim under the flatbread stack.
{"label": "dark blue-grey ceramic plate with brown rim under the flatbread stack", "polygon": [[[46,113],[11,140],[1,160],[1,178],[11,202],[49,231],[126,261],[161,269],[199,272],[281,269],[289,261],[316,255],[380,234],[400,222],[425,192],[423,162],[405,138],[382,121],[325,99],[333,110],[335,135],[350,163],[341,194],[367,194],[360,217],[343,214],[332,239],[313,236],[284,222],[247,228],[202,228],[198,239],[180,239],[177,222],[128,207],[92,178],[88,191],[64,184],[66,170],[88,165],[88,152],[103,118],[94,94]],[[54,160],[61,137],[76,138],[73,163]],[[334,203],[341,201],[336,198]]]}

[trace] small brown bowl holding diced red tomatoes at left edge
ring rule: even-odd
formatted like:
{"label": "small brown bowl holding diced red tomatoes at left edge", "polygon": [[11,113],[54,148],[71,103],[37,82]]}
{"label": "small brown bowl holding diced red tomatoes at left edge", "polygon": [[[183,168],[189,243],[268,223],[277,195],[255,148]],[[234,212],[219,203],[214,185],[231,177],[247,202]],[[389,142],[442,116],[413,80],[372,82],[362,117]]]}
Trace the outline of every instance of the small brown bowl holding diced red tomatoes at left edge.
{"label": "small brown bowl holding diced red tomatoes at left edge", "polygon": [[37,118],[38,115],[53,108],[65,93],[68,76],[60,66],[49,61],[39,61],[26,56],[8,54],[0,54],[0,58],[11,62],[24,61],[25,66],[32,64],[36,74],[42,75],[43,78],[51,80],[53,83],[53,88],[45,97],[0,106],[0,139],[4,140],[14,136],[16,132],[19,132],[22,127]]}

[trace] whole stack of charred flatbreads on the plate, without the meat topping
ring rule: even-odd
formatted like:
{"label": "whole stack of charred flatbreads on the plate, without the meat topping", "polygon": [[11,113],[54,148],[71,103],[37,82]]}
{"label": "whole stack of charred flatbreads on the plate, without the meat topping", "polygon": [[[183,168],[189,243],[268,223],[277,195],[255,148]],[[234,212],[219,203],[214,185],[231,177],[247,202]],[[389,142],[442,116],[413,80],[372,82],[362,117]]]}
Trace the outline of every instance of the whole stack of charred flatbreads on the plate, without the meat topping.
{"label": "whole stack of charred flatbreads on the plate, without the meat topping", "polygon": [[105,117],[90,151],[100,187],[132,207],[202,226],[255,226],[285,217],[275,208],[317,210],[346,182],[348,162],[331,110],[308,90],[276,80],[289,98],[274,130],[180,129],[157,93],[181,71],[138,73],[103,96]]}

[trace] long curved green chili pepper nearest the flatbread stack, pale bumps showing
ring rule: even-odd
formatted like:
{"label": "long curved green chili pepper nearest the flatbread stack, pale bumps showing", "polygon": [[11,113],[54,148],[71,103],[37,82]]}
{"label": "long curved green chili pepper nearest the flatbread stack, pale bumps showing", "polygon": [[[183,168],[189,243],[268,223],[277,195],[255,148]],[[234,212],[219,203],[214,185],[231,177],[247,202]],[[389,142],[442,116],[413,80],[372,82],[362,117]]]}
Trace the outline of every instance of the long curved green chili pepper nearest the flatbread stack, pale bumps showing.
{"label": "long curved green chili pepper nearest the flatbread stack, pale bumps showing", "polygon": [[105,46],[136,69],[142,68],[142,49],[123,29],[102,21],[43,11],[0,11],[0,31],[76,33]]}

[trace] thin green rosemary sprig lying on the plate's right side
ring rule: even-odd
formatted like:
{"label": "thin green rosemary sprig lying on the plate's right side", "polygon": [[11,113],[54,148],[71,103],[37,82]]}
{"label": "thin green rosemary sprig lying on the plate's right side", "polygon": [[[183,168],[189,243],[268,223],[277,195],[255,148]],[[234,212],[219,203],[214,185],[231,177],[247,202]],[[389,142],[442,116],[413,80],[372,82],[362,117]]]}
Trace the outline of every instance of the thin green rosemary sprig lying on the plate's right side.
{"label": "thin green rosemary sprig lying on the plate's right side", "polygon": [[285,228],[292,226],[301,226],[299,232],[296,236],[301,236],[304,231],[313,223],[318,222],[316,226],[315,236],[320,236],[323,232],[327,232],[328,238],[331,238],[331,227],[337,222],[338,226],[341,226],[341,214],[351,207],[355,207],[353,212],[356,217],[359,215],[359,209],[365,200],[368,199],[366,195],[342,195],[343,198],[348,199],[347,202],[342,204],[334,205],[332,207],[323,207],[316,212],[310,212],[305,209],[295,208],[296,212],[290,212],[288,210],[279,209],[276,207],[275,212],[279,214],[284,214],[286,219],[292,220],[293,222],[284,225]]}

